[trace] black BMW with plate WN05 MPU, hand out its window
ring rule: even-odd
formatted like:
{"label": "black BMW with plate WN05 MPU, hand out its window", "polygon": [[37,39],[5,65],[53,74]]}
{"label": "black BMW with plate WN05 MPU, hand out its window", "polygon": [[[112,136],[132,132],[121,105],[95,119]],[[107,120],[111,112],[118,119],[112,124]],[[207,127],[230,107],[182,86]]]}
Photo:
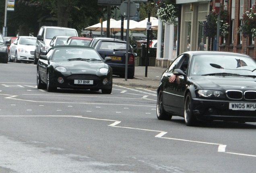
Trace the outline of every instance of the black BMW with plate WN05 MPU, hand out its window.
{"label": "black BMW with plate WN05 MPU, hand out its window", "polygon": [[256,62],[231,52],[184,52],[163,72],[157,95],[160,120],[256,122]]}

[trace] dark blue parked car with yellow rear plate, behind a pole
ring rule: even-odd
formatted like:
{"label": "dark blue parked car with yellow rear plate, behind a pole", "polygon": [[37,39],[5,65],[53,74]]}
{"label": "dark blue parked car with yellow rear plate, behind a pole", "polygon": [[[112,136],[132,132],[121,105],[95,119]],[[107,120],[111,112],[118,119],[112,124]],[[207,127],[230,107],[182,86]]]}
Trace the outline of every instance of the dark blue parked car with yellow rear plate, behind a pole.
{"label": "dark blue parked car with yellow rear plate, behind a pole", "polygon": [[[107,62],[113,69],[113,74],[120,77],[125,77],[126,66],[126,41],[121,40],[98,40],[93,46],[101,57],[105,59],[110,57],[112,60]],[[135,62],[134,52],[132,46],[129,46],[128,50],[128,73],[127,77],[134,78]]]}

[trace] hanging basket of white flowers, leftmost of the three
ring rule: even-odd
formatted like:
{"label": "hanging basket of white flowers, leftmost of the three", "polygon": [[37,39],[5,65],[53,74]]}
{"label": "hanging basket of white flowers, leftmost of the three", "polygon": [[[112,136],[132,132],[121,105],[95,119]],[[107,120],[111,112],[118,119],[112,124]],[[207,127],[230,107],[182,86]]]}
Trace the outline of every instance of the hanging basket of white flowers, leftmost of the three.
{"label": "hanging basket of white flowers, leftmost of the three", "polygon": [[157,16],[166,24],[174,24],[178,17],[178,6],[175,0],[158,0],[157,1]]}

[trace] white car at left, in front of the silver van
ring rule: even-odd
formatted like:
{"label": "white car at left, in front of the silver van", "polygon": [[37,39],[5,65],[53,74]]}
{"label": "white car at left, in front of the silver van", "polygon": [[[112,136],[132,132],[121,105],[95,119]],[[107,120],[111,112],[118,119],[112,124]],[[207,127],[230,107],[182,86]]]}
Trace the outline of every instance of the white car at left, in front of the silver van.
{"label": "white car at left, in front of the silver van", "polygon": [[36,40],[36,37],[18,36],[10,45],[8,62],[33,62]]}

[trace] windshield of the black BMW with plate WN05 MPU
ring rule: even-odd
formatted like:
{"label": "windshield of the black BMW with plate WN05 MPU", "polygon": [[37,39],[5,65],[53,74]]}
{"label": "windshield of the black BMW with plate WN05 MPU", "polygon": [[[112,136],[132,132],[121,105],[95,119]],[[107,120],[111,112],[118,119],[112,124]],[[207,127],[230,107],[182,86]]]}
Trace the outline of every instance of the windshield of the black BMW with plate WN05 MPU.
{"label": "windshield of the black BMW with plate WN05 MPU", "polygon": [[249,57],[231,55],[195,55],[190,65],[191,76],[254,76],[256,62]]}

